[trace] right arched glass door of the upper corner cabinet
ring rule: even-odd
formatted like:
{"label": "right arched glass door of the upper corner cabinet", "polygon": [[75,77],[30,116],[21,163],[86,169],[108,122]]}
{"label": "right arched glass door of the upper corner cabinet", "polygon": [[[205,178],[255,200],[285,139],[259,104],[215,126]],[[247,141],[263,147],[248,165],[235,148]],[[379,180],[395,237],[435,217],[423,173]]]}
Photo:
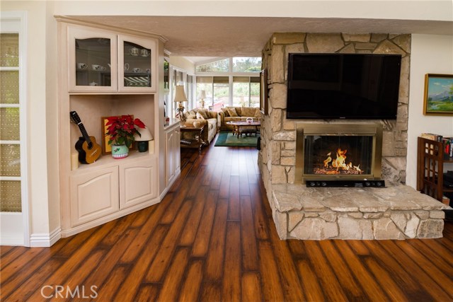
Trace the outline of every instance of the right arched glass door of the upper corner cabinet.
{"label": "right arched glass door of the upper corner cabinet", "polygon": [[118,90],[155,91],[154,40],[118,36]]}

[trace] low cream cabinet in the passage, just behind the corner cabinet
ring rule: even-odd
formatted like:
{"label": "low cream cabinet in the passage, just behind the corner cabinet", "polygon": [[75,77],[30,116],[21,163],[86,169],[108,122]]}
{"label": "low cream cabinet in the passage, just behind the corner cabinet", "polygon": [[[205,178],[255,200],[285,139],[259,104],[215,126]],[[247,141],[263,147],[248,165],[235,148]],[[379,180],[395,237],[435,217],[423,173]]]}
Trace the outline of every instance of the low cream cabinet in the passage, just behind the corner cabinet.
{"label": "low cream cabinet in the passage, just behind the corner cabinet", "polygon": [[165,132],[166,185],[171,185],[180,173],[180,128],[173,124]]}

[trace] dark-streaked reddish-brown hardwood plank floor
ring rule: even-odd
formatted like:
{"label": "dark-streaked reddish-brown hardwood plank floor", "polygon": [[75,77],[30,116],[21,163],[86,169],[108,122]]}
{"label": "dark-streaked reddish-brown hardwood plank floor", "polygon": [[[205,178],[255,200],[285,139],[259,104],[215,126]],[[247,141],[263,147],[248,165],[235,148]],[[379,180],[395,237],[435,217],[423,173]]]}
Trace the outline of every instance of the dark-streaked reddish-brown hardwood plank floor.
{"label": "dark-streaked reddish-brown hardwood plank floor", "polygon": [[435,240],[282,241],[257,158],[183,149],[160,204],[51,248],[2,246],[1,301],[453,301],[452,223]]}

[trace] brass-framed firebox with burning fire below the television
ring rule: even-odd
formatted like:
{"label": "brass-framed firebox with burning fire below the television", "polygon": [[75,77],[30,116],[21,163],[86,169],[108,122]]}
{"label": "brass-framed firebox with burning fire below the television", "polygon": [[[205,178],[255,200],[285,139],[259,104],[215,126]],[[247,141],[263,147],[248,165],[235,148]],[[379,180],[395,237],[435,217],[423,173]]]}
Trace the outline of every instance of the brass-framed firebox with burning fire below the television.
{"label": "brass-framed firebox with burning fire below the television", "polygon": [[295,182],[378,180],[382,125],[297,123]]}

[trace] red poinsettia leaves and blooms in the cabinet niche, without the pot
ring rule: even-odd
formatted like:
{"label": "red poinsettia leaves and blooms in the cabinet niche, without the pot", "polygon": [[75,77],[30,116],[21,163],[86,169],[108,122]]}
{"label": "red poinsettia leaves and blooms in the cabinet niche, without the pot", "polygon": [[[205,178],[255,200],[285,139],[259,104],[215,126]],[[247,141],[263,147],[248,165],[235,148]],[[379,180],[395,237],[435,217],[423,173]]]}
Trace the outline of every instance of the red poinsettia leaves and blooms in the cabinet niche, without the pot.
{"label": "red poinsettia leaves and blooms in the cabinet niche, without the pot", "polygon": [[130,148],[130,145],[135,141],[134,134],[137,133],[139,137],[142,136],[135,126],[144,128],[144,123],[137,118],[134,119],[132,115],[121,115],[108,117],[105,126],[107,127],[105,135],[110,137],[108,144],[125,144],[127,148]]}

